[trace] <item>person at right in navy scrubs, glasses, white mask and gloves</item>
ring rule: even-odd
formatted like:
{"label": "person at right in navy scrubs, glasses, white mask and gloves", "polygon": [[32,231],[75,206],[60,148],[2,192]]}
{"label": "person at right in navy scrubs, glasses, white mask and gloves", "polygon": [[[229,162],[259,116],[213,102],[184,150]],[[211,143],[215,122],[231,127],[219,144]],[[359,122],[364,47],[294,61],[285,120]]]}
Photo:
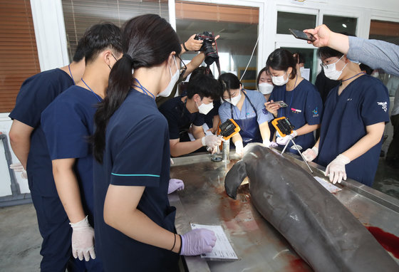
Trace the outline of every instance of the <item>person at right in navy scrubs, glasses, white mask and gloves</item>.
{"label": "person at right in navy scrubs, glasses, white mask and gloves", "polygon": [[308,161],[317,157],[333,183],[350,177],[371,186],[389,122],[388,89],[343,53],[322,47],[318,55],[326,77],[341,84],[328,93],[320,138],[304,157]]}

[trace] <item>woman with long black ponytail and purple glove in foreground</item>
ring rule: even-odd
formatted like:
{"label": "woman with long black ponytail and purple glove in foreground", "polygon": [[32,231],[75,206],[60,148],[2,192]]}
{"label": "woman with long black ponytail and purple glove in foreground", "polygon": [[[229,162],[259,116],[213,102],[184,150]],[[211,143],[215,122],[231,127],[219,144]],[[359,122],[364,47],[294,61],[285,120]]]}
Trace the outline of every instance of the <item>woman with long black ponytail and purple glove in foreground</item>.
{"label": "woman with long black ponytail and purple glove in foreground", "polygon": [[170,95],[179,78],[180,43],[155,14],[130,19],[122,31],[123,57],[110,71],[91,138],[96,253],[105,271],[178,271],[179,253],[210,252],[216,241],[206,229],[177,235],[167,199],[169,130],[155,98]]}

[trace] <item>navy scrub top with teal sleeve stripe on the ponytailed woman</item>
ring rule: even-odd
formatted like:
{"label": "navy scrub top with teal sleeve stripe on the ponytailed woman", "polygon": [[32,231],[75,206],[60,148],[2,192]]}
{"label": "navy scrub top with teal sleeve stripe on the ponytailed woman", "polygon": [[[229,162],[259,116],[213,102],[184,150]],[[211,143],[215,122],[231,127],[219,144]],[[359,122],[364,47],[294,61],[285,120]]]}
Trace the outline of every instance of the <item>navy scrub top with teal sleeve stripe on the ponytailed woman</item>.
{"label": "navy scrub top with teal sleeve stripe on the ponytailed woman", "polygon": [[145,186],[138,209],[175,232],[176,209],[167,199],[169,131],[155,100],[131,90],[108,123],[103,164],[94,163],[95,241],[105,271],[178,271],[178,254],[135,241],[104,222],[110,184]]}

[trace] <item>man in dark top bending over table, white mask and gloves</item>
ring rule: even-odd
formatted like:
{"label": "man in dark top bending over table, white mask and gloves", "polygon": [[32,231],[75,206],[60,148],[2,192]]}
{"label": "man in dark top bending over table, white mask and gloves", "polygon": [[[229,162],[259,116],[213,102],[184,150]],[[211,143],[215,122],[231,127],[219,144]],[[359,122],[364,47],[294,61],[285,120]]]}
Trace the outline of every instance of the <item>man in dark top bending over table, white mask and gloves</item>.
{"label": "man in dark top bending over table, white mask and gloves", "polygon": [[[211,152],[217,150],[221,140],[216,135],[205,135],[204,118],[214,108],[214,100],[220,100],[219,83],[209,75],[192,75],[187,95],[172,98],[163,103],[160,112],[169,125],[170,155],[178,157],[195,152],[206,146]],[[188,132],[195,137],[190,140]],[[204,150],[206,151],[206,150]]]}

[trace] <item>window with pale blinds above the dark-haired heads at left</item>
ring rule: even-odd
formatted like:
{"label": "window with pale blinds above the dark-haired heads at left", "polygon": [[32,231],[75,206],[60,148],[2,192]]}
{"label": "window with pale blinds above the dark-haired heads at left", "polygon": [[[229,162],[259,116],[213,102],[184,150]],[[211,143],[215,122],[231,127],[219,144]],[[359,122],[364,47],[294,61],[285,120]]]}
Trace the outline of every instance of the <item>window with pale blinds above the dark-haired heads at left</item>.
{"label": "window with pale blinds above the dark-haired heads at left", "polygon": [[159,14],[169,20],[167,0],[62,0],[69,59],[87,28],[103,21],[122,26],[142,14]]}

